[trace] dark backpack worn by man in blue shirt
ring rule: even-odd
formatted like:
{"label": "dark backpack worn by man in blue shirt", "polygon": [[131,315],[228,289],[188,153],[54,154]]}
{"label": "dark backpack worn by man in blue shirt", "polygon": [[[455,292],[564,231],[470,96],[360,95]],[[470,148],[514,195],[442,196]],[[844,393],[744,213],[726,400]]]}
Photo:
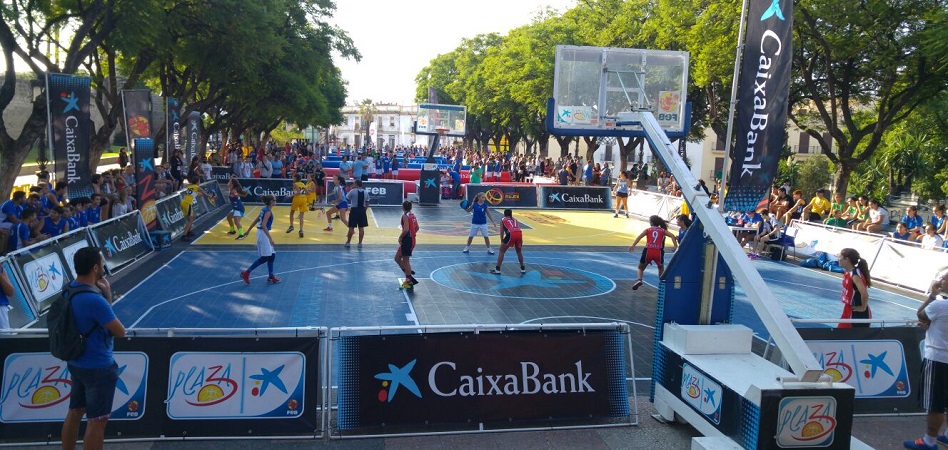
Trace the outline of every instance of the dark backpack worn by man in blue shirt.
{"label": "dark backpack worn by man in blue shirt", "polygon": [[88,333],[79,331],[76,318],[72,313],[72,296],[80,292],[99,293],[88,285],[66,286],[62,295],[53,301],[46,313],[46,327],[49,329],[49,352],[63,361],[72,361],[86,351],[86,339],[95,331],[95,324]]}

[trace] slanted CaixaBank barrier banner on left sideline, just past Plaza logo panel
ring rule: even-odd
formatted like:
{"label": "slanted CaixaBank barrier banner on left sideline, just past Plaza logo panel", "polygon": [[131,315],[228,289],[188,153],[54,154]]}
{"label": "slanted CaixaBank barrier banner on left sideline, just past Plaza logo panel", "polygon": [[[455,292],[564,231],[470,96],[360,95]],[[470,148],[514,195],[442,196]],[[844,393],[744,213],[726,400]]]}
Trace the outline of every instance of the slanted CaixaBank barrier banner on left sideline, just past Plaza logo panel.
{"label": "slanted CaixaBank barrier banner on left sideline, just past Plaza logo panel", "polygon": [[102,250],[109,273],[152,251],[151,239],[138,211],[89,227],[89,233],[96,247]]}

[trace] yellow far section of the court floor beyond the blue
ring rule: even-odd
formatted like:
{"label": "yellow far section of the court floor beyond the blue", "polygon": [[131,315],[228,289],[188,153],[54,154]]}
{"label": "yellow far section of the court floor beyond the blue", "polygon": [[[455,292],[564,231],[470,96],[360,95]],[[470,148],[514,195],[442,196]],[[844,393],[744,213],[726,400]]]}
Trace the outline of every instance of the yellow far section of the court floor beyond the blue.
{"label": "yellow far section of the court floor beyond the blue", "polygon": [[[260,213],[261,206],[247,206],[246,217],[242,225],[246,227],[253,218]],[[370,208],[369,227],[365,229],[364,243],[395,245],[400,230],[397,208]],[[470,216],[460,209],[455,211],[445,207],[426,209],[416,207],[415,213],[421,229],[418,232],[418,245],[425,244],[463,244],[470,229]],[[500,223],[500,212],[493,210],[494,219]],[[273,235],[274,242],[280,244],[340,244],[345,242],[348,229],[339,220],[333,220],[333,232],[323,231],[326,228],[326,216],[321,211],[307,211],[305,215],[304,234],[299,237],[299,225],[290,233],[286,232],[289,226],[289,206],[277,206],[274,209]],[[568,211],[568,210],[514,210],[514,218],[527,225],[524,230],[526,245],[579,245],[579,246],[616,246],[628,247],[648,223],[635,217],[627,219],[623,216],[612,217],[612,212],[606,211]],[[490,226],[490,223],[488,222]],[[491,236],[498,234],[497,227],[490,226]],[[256,245],[256,237],[250,231],[247,239],[235,241],[233,235],[227,234],[229,226],[223,219],[204,233],[197,244],[204,245]],[[245,230],[246,231],[246,230]],[[475,244],[480,241],[475,238]],[[356,236],[353,236],[356,242]],[[639,245],[643,245],[641,242]]]}

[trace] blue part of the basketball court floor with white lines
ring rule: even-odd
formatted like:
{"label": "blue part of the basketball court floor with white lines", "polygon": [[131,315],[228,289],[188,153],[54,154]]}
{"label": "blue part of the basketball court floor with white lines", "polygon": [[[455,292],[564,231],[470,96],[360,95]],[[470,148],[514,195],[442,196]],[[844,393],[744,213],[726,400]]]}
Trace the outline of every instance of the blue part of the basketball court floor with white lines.
{"label": "blue part of the basketball court floor with white lines", "polygon": [[[275,270],[282,282],[268,285],[264,265],[248,286],[238,274],[255,252],[192,246],[154,267],[115,310],[133,328],[619,321],[648,329],[643,335],[650,336],[654,326],[657,294],[649,286],[658,284],[656,269],[645,272],[649,286],[631,290],[638,253],[623,248],[525,247],[526,274],[511,251],[504,273],[493,275],[488,271],[496,257],[483,247],[463,254],[457,246],[428,246],[443,250],[415,252],[421,283],[405,291],[398,288],[391,246],[310,247],[315,250],[278,249]],[[839,317],[839,277],[770,260],[754,266],[791,318]],[[870,305],[874,318],[896,322],[914,318],[919,301],[874,287]],[[767,337],[740,287],[734,319]]]}

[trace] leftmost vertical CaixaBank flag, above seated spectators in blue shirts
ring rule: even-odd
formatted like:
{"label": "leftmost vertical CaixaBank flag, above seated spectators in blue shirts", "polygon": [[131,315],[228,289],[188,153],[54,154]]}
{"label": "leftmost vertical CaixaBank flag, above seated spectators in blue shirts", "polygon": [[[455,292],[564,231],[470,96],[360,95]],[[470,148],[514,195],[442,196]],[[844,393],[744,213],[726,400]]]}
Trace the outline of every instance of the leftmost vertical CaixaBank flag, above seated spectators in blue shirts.
{"label": "leftmost vertical CaixaBank flag, above seated spectators in blue shirts", "polygon": [[89,77],[60,73],[46,76],[49,147],[57,181],[69,186],[69,199],[92,195],[89,150],[92,144]]}

